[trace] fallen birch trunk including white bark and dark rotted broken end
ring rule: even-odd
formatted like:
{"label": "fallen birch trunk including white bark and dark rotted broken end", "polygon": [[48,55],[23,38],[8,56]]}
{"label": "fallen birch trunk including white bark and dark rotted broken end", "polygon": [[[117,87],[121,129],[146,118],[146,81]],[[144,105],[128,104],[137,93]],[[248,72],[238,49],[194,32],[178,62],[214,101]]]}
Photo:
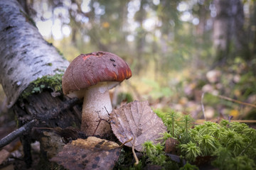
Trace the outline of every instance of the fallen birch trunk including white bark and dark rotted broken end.
{"label": "fallen birch trunk including white bark and dark rotted broken end", "polygon": [[[35,23],[16,0],[0,0],[0,54],[0,83],[7,96],[8,107],[14,108],[17,115],[18,126],[36,120],[36,127],[67,128],[75,125],[80,128],[81,109],[75,106],[79,101],[70,103],[70,98],[63,96],[61,88],[56,91],[56,86],[61,87],[61,78],[52,87],[43,85],[47,84],[48,77],[53,81],[54,75],[61,77],[69,62],[52,44],[43,40]],[[41,81],[36,86],[41,89],[33,86],[35,83],[31,84],[38,78]],[[19,98],[29,88],[34,90],[31,95]],[[33,93],[35,88],[39,88],[41,93]],[[23,134],[24,161],[28,166],[31,165],[30,142],[39,140],[41,152],[47,156],[53,150],[52,143],[49,143],[52,136],[36,129]],[[61,141],[60,136],[58,141]]]}

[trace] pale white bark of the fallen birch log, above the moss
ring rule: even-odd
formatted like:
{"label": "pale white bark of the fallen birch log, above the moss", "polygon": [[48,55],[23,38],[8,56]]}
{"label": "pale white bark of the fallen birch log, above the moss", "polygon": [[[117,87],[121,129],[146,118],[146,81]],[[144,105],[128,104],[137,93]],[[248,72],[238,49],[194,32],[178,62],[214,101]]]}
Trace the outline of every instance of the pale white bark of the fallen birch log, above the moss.
{"label": "pale white bark of the fallen birch log, above the moss", "polygon": [[16,0],[0,0],[0,83],[14,105],[31,81],[65,70],[69,62],[50,43]]}

